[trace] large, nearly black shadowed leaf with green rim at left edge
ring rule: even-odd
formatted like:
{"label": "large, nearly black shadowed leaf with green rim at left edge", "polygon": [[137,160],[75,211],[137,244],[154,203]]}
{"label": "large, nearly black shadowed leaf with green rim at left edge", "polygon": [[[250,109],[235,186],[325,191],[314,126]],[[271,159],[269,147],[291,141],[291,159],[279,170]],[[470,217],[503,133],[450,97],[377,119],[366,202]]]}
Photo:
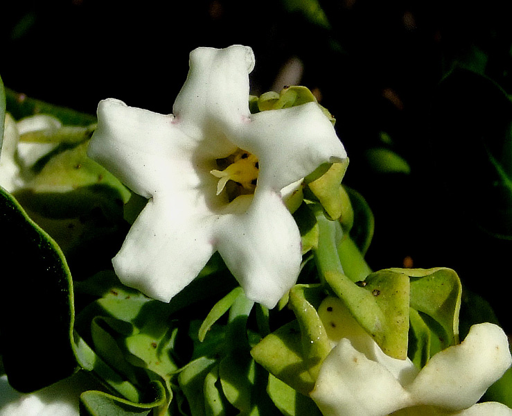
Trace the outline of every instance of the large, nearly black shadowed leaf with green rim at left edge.
{"label": "large, nearly black shadowed leaf with green rim at left edge", "polygon": [[76,369],[71,274],[58,245],[1,188],[0,229],[3,365],[12,387],[31,392]]}

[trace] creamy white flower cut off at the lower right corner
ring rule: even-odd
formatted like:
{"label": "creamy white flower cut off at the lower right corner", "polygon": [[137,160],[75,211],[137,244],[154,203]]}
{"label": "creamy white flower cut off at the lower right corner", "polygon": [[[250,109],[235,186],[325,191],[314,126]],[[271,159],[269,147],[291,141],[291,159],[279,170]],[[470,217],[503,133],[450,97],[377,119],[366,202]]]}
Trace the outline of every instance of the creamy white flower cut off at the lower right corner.
{"label": "creamy white flower cut off at the lower right corner", "polygon": [[512,415],[502,404],[475,404],[512,363],[497,325],[473,325],[461,344],[435,354],[418,371],[409,359],[386,356],[341,302],[327,302],[319,313],[338,342],[310,394],[325,416]]}

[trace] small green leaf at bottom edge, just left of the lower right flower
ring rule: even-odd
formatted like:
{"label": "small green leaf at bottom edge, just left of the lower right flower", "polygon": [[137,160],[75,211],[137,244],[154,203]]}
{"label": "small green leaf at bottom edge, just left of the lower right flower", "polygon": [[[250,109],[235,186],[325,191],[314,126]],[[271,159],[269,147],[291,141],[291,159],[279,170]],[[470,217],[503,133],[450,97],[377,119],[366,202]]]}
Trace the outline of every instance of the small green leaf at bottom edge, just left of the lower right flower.
{"label": "small green leaf at bottom edge, just left of the lower right flower", "polygon": [[267,392],[285,416],[321,416],[320,410],[312,399],[294,390],[272,374],[269,375]]}

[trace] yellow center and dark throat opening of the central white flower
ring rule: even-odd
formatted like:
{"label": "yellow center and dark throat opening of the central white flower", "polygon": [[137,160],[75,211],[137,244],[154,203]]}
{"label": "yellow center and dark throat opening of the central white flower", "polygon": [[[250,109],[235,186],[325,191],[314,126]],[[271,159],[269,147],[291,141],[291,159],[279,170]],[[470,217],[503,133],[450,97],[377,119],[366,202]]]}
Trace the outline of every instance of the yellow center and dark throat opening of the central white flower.
{"label": "yellow center and dark throat opening of the central white flower", "polygon": [[226,189],[229,201],[237,196],[254,193],[258,182],[258,158],[251,153],[238,149],[235,153],[217,159],[219,170],[210,173],[219,178],[217,195]]}

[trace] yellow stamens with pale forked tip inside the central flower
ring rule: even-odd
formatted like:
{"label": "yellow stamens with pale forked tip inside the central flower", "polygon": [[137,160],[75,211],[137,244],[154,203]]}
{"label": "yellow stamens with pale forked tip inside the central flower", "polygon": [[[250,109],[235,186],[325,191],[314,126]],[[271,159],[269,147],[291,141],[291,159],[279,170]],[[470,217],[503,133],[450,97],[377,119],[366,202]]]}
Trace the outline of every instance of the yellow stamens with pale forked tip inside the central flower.
{"label": "yellow stamens with pale forked tip inside the central flower", "polygon": [[[233,162],[231,162],[231,160]],[[245,150],[237,150],[227,158],[229,165],[223,171],[213,169],[210,173],[219,178],[217,195],[219,195],[229,180],[240,184],[245,191],[254,192],[258,180],[258,158]]]}

